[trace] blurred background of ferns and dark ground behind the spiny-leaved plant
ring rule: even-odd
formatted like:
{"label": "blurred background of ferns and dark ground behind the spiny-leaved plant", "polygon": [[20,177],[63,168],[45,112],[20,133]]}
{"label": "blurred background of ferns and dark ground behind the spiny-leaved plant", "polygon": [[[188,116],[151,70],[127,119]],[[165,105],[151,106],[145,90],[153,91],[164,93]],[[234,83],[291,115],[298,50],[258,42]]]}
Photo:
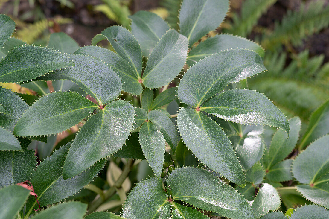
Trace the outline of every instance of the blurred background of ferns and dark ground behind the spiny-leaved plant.
{"label": "blurred background of ferns and dark ground behind the spiny-leaved plant", "polygon": [[[230,2],[231,8],[225,22],[216,31],[203,37],[202,41],[214,37],[217,33],[227,33],[261,44],[266,50],[264,63],[268,72],[249,78],[247,87],[268,96],[288,118],[299,116],[305,130],[311,113],[329,98],[329,0]],[[63,44],[66,43],[68,49],[89,45],[94,35],[111,25],[122,25],[129,29],[128,16],[139,10],[154,12],[164,18],[172,28],[178,29],[177,15],[180,5],[181,0],[0,0],[0,13],[8,14],[17,24],[12,41],[15,45],[33,43],[46,46],[51,34],[64,32],[76,42],[66,35],[52,36],[54,41],[58,37]],[[51,44],[49,46],[53,47]],[[108,43],[103,46],[110,48]],[[8,53],[4,49],[0,50],[2,57]],[[66,90],[72,89],[73,86],[72,83],[64,81],[61,84],[31,82],[24,87],[8,83],[2,86],[20,93],[28,103],[33,103],[44,94],[57,91],[59,85],[61,89],[65,87]],[[175,86],[175,83],[170,86]],[[159,93],[155,92],[156,95]],[[122,95],[127,100],[132,100],[135,106],[139,106],[138,97],[126,93]],[[176,114],[178,106],[179,103],[173,101],[165,109],[170,114]],[[42,161],[56,148],[74,139],[82,125],[83,123],[80,123],[63,133],[48,136],[47,143],[34,141],[29,148],[36,150],[38,159]],[[274,131],[266,127],[266,144],[269,144]],[[301,135],[302,133],[303,131]],[[133,134],[131,138],[136,136]],[[175,155],[185,157],[184,160],[190,165],[198,162],[182,141],[179,142]],[[108,159],[108,167],[74,199],[88,203],[95,197],[102,196],[103,190],[111,187],[127,161],[114,157]],[[165,166],[170,166],[172,162],[174,161],[171,155],[166,153]],[[153,174],[145,160],[138,160],[135,164],[129,180],[121,190],[98,210],[120,211],[131,185]],[[285,185],[289,183],[285,182]],[[287,195],[295,195],[296,201],[284,203],[286,208],[306,202],[299,194]]]}

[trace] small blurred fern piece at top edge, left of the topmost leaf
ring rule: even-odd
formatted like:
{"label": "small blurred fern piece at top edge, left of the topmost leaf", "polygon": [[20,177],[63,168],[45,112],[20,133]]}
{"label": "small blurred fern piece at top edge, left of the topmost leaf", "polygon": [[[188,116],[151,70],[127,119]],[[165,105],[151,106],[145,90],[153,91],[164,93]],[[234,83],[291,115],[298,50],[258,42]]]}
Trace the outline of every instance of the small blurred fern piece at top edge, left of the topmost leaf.
{"label": "small blurred fern piece at top edge, left of the topmost leaf", "polygon": [[166,21],[170,25],[171,28],[178,30],[178,15],[179,9],[181,8],[182,0],[162,0],[160,5],[167,9],[168,16]]}

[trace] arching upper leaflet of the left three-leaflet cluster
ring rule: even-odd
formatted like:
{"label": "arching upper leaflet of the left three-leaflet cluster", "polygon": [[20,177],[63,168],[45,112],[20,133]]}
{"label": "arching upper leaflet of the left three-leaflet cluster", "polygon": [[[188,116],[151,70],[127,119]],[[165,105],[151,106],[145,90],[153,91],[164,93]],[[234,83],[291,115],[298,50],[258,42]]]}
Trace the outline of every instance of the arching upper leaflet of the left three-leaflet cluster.
{"label": "arching upper leaflet of the left three-leaflet cluster", "polygon": [[120,95],[122,82],[107,65],[95,58],[84,55],[67,56],[74,62],[74,67],[54,71],[37,80],[71,80],[102,105]]}

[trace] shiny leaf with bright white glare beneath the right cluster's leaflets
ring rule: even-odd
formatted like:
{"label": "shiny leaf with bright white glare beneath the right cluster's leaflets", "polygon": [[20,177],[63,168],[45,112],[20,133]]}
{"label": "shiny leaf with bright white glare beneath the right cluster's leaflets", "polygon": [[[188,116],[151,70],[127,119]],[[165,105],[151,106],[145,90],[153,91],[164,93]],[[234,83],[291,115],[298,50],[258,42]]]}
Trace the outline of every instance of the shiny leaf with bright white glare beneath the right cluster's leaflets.
{"label": "shiny leaf with bright white glare beneath the right cluster's leaflets", "polygon": [[[234,150],[244,170],[250,169],[262,158],[264,128],[260,125],[241,125],[241,132],[230,137]],[[241,135],[241,136],[240,136]]]}

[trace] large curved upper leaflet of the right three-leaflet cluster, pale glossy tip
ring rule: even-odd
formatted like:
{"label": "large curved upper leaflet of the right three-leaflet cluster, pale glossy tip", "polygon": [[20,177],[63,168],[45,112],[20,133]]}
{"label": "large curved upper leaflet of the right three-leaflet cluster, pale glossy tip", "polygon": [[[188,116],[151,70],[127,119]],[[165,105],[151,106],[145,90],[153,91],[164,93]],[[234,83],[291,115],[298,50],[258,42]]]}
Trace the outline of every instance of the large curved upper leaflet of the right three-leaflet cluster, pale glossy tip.
{"label": "large curved upper leaflet of the right three-leaflet cluster, pale glossy tip", "polygon": [[[184,103],[200,106],[230,83],[266,70],[261,57],[250,50],[225,50],[192,66],[181,80],[177,96]],[[201,82],[195,84],[195,82]]]}

